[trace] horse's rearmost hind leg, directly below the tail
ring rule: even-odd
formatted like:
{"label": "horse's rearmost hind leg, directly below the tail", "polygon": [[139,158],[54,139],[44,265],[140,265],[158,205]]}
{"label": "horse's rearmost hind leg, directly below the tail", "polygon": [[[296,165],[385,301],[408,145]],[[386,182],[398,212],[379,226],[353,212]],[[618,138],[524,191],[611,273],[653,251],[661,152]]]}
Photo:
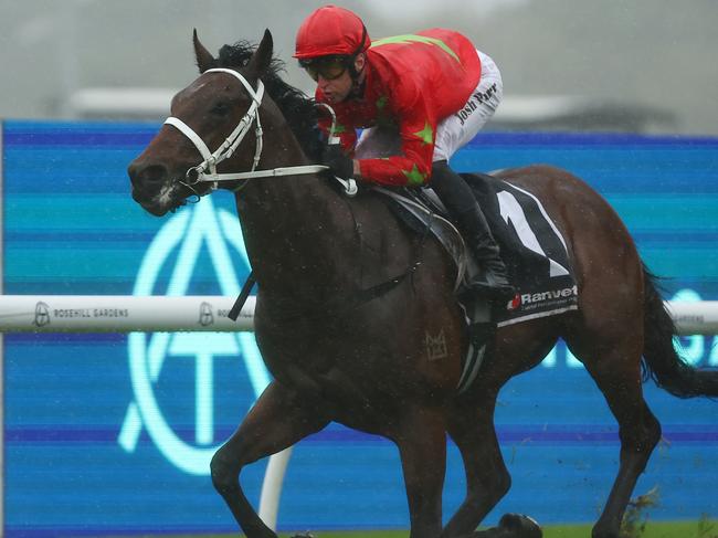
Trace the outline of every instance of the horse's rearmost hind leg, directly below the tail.
{"label": "horse's rearmost hind leg, directly below the tail", "polygon": [[643,398],[641,387],[642,327],[626,324],[614,338],[569,337],[571,351],[583,361],[619,422],[621,464],[593,538],[615,538],[638,476],[661,439],[661,425]]}

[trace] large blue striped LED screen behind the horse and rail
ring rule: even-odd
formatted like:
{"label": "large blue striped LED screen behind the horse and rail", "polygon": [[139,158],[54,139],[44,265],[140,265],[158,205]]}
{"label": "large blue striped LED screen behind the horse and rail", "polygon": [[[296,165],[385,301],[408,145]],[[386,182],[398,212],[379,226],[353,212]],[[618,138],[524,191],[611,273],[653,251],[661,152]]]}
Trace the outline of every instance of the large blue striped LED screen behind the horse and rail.
{"label": "large blue striped LED screen behind the horse and rail", "polygon": [[[235,295],[247,273],[233,199],[218,192],[157,219],[125,172],[157,130],[142,124],[3,125],[3,293]],[[667,299],[718,299],[718,139],[481,135],[460,170],[548,162],[619,211]],[[683,338],[718,366],[714,337]],[[4,536],[229,532],[208,461],[268,378],[251,334],[4,336]],[[645,386],[664,426],[636,494],[656,519],[718,515],[718,404]],[[617,470],[616,425],[564,346],[513,380],[497,429],[514,484],[492,513],[541,523],[598,517]],[[242,476],[255,506],[265,464]],[[445,515],[462,500],[450,450]],[[405,528],[390,443],[332,425],[289,463],[281,529]]]}

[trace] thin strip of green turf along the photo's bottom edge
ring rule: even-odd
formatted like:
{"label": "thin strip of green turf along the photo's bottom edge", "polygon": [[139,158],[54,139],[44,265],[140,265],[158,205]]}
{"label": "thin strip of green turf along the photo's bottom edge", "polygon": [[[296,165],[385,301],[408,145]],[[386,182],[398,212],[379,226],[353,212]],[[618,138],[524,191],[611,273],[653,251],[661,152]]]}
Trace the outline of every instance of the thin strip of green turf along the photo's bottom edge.
{"label": "thin strip of green turf along the photo's bottom edge", "polygon": [[[316,538],[406,538],[406,530],[352,530],[312,532]],[[162,538],[236,538],[237,535],[183,535]],[[281,538],[292,536],[281,532]],[[543,527],[543,538],[589,538],[591,524],[550,525]],[[148,537],[149,538],[149,537]],[[626,535],[626,538],[718,538],[718,520],[700,521],[648,521],[642,532]]]}

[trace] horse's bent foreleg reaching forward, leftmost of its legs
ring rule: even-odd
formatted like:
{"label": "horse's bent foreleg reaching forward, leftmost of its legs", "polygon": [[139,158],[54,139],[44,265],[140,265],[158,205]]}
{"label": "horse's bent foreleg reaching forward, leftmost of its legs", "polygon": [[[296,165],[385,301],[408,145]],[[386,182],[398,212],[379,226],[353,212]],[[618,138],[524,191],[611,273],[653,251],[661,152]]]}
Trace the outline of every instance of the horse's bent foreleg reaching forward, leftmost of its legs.
{"label": "horse's bent foreleg reaching forward, leftmost of its legs", "polygon": [[296,398],[275,381],[262,393],[239,430],[217,451],[211,463],[212,483],[247,538],[276,538],[276,535],[244,496],[239,479],[242,467],[292,446],[327,423],[316,405],[306,398]]}

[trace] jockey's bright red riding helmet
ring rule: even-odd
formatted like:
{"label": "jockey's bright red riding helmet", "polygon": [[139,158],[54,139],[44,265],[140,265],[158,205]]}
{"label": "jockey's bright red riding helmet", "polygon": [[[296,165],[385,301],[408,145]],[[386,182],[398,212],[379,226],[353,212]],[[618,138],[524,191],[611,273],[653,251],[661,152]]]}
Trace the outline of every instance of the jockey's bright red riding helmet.
{"label": "jockey's bright red riding helmet", "polygon": [[370,44],[367,28],[356,13],[337,6],[325,6],[299,27],[294,57],[353,56],[369,49]]}

